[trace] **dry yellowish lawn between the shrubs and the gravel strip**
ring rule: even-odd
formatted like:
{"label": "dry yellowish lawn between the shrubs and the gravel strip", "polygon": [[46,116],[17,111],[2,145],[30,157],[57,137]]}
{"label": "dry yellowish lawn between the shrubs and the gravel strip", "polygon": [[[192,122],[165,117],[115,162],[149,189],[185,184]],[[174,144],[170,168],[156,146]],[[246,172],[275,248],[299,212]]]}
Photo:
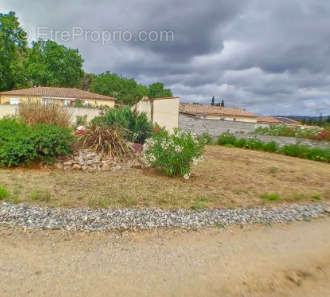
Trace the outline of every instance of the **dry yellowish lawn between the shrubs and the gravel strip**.
{"label": "dry yellowish lawn between the shrubs and the gravel strip", "polygon": [[[153,169],[115,172],[0,170],[16,201],[65,207],[249,207],[330,199],[330,164],[272,153],[208,146],[191,179]],[[279,201],[261,199],[276,193]],[[47,199],[44,199],[47,197]]]}

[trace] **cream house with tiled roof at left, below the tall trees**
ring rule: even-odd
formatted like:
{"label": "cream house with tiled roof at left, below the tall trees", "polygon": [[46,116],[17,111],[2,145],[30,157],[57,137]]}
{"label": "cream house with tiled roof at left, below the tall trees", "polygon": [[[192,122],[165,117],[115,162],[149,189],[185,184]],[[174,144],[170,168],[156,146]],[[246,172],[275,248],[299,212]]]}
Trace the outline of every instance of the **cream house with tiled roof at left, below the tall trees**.
{"label": "cream house with tiled roof at left, below the tall trees", "polygon": [[115,106],[116,99],[76,88],[33,87],[0,92],[1,104],[19,104],[22,102],[39,101],[45,104],[58,103],[66,106],[74,105],[80,100],[84,105]]}

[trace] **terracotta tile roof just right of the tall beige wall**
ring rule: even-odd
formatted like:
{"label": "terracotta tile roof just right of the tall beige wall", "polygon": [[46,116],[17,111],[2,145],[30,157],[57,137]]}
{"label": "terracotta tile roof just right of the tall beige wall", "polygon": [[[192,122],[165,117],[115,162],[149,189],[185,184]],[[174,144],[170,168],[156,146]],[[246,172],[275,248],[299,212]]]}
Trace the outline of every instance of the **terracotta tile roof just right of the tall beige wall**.
{"label": "terracotta tile roof just right of the tall beige wall", "polygon": [[221,107],[204,104],[180,103],[180,112],[193,115],[221,115],[256,118],[253,113],[234,107]]}

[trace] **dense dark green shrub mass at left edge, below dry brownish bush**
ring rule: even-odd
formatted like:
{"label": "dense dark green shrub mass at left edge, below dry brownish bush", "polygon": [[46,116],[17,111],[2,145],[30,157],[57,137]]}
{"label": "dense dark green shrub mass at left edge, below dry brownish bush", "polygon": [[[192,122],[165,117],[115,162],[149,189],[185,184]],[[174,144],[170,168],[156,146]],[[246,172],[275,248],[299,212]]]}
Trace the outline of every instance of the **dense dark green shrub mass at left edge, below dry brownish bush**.
{"label": "dense dark green shrub mass at left edge, below dry brownish bush", "polygon": [[0,121],[0,166],[12,167],[31,161],[50,162],[71,152],[73,134],[52,125],[27,126],[14,119]]}

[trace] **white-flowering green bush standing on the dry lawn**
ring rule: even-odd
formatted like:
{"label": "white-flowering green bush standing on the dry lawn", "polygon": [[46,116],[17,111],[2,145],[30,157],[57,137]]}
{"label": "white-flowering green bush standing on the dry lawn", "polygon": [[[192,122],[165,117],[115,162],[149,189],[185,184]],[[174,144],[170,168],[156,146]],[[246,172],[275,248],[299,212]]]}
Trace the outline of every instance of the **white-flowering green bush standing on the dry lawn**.
{"label": "white-flowering green bush standing on the dry lawn", "polygon": [[205,140],[192,133],[161,131],[147,139],[144,158],[147,165],[159,168],[170,176],[190,177],[191,165],[203,161]]}

